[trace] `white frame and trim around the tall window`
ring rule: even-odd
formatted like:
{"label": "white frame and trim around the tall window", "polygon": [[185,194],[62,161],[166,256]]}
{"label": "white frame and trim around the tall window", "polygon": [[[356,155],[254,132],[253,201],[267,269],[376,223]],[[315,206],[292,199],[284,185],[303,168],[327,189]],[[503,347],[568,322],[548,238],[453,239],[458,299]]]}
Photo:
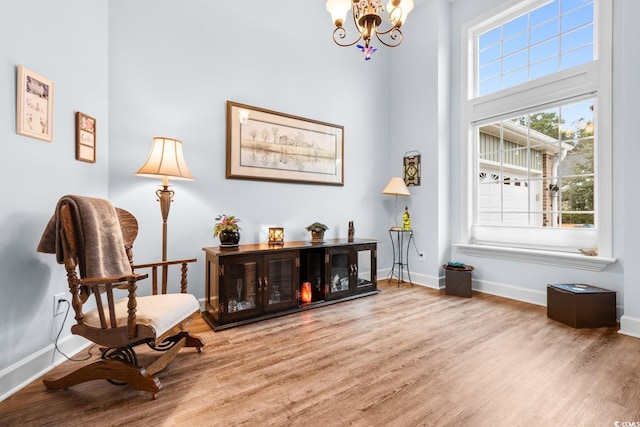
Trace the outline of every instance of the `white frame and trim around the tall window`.
{"label": "white frame and trim around the tall window", "polygon": [[[512,7],[498,11],[490,11],[479,19],[468,23],[462,28],[461,65],[464,76],[461,93],[461,243],[456,244],[463,253],[474,256],[485,256],[500,259],[512,259],[541,264],[551,264],[564,267],[580,268],[600,271],[611,262],[612,256],[612,32],[613,10],[612,2],[594,0],[594,60],[557,73],[541,77],[536,80],[513,86],[498,92],[483,96],[476,96],[475,76],[478,73],[478,58],[476,40],[480,34],[495,28],[511,19],[521,16],[545,3],[548,0],[524,0]],[[516,244],[506,241],[503,236],[489,236],[490,230],[483,229],[478,233],[478,226],[474,223],[477,211],[476,183],[478,177],[477,140],[475,126],[490,123],[510,116],[526,114],[535,110],[543,110],[563,102],[576,102],[581,99],[594,98],[597,103],[594,112],[595,138],[595,227],[594,230],[559,230],[549,228],[500,226],[507,240],[513,239],[513,232],[519,233],[523,241]],[[524,230],[523,230],[524,229]],[[555,232],[562,237],[546,238],[549,244],[531,243],[527,235],[537,235],[532,231]],[[558,231],[566,231],[557,233]],[[584,256],[576,249],[567,247],[566,239],[575,238],[575,232],[591,233],[592,240],[598,248],[598,256]],[[511,234],[510,234],[511,233]],[[587,234],[585,233],[585,234]],[[593,234],[596,234],[594,237]],[[571,236],[574,234],[573,236]],[[578,234],[579,235],[579,234]],[[478,237],[481,237],[479,240]],[[492,238],[494,237],[494,238]],[[533,236],[534,240],[540,237]],[[554,244],[556,240],[564,240]],[[587,242],[589,240],[586,240]],[[555,242],[558,243],[558,242]],[[580,245],[584,241],[577,243]],[[582,247],[582,246],[578,246]]]}

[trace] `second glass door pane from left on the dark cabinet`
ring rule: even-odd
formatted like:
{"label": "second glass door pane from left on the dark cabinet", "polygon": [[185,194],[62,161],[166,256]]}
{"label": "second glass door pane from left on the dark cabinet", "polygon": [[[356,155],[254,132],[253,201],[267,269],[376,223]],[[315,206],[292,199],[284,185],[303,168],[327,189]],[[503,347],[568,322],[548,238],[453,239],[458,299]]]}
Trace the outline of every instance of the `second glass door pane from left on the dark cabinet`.
{"label": "second glass door pane from left on the dark cabinet", "polygon": [[298,305],[298,258],[296,252],[266,255],[261,280],[265,311]]}

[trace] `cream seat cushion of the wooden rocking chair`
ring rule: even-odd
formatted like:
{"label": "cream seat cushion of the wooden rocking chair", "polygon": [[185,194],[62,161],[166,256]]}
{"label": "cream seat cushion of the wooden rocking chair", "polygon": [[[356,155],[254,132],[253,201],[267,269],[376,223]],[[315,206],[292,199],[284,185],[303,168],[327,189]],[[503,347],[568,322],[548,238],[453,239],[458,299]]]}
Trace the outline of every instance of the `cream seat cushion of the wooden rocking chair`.
{"label": "cream seat cushion of the wooden rocking chair", "polygon": [[[127,325],[128,298],[121,298],[115,302],[116,323],[118,326]],[[182,322],[194,312],[200,310],[200,303],[191,294],[166,294],[137,297],[136,323],[148,325],[156,331],[156,336],[167,332]],[[110,321],[109,310],[105,306],[107,323]],[[93,328],[100,327],[98,310],[93,309],[84,315],[84,323]]]}

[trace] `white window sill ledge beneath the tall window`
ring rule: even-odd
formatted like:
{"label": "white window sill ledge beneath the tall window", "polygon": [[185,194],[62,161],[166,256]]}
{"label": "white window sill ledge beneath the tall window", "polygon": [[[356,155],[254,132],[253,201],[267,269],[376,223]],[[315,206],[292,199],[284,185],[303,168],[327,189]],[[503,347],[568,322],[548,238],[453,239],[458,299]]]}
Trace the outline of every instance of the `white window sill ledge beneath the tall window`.
{"label": "white window sill ledge beneath the tall window", "polygon": [[576,268],[580,270],[602,271],[616,258],[586,256],[569,252],[553,252],[534,249],[507,248],[500,246],[455,244],[465,255],[497,258],[507,261],[530,262],[534,264],[553,265],[556,267]]}

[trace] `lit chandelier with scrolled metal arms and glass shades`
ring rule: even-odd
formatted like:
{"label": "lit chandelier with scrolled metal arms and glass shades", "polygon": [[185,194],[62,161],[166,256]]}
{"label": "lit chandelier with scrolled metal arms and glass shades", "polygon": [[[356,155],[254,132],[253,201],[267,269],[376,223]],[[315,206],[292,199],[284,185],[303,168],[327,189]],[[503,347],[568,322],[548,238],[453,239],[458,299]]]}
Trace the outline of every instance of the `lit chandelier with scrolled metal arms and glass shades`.
{"label": "lit chandelier with scrolled metal arms and glass shades", "polygon": [[[358,45],[358,47],[365,53],[366,59],[369,59],[376,50],[369,45],[373,35],[389,47],[396,47],[402,42],[400,27],[407,20],[409,12],[413,10],[413,0],[389,0],[386,12],[390,27],[386,30],[379,27],[385,12],[382,0],[327,0],[326,7],[336,25],[333,30],[333,41],[339,46],[353,46],[360,40],[364,40],[364,46]],[[343,24],[349,9],[353,15],[353,23],[359,32],[358,37],[352,42],[344,40],[347,30]]]}

